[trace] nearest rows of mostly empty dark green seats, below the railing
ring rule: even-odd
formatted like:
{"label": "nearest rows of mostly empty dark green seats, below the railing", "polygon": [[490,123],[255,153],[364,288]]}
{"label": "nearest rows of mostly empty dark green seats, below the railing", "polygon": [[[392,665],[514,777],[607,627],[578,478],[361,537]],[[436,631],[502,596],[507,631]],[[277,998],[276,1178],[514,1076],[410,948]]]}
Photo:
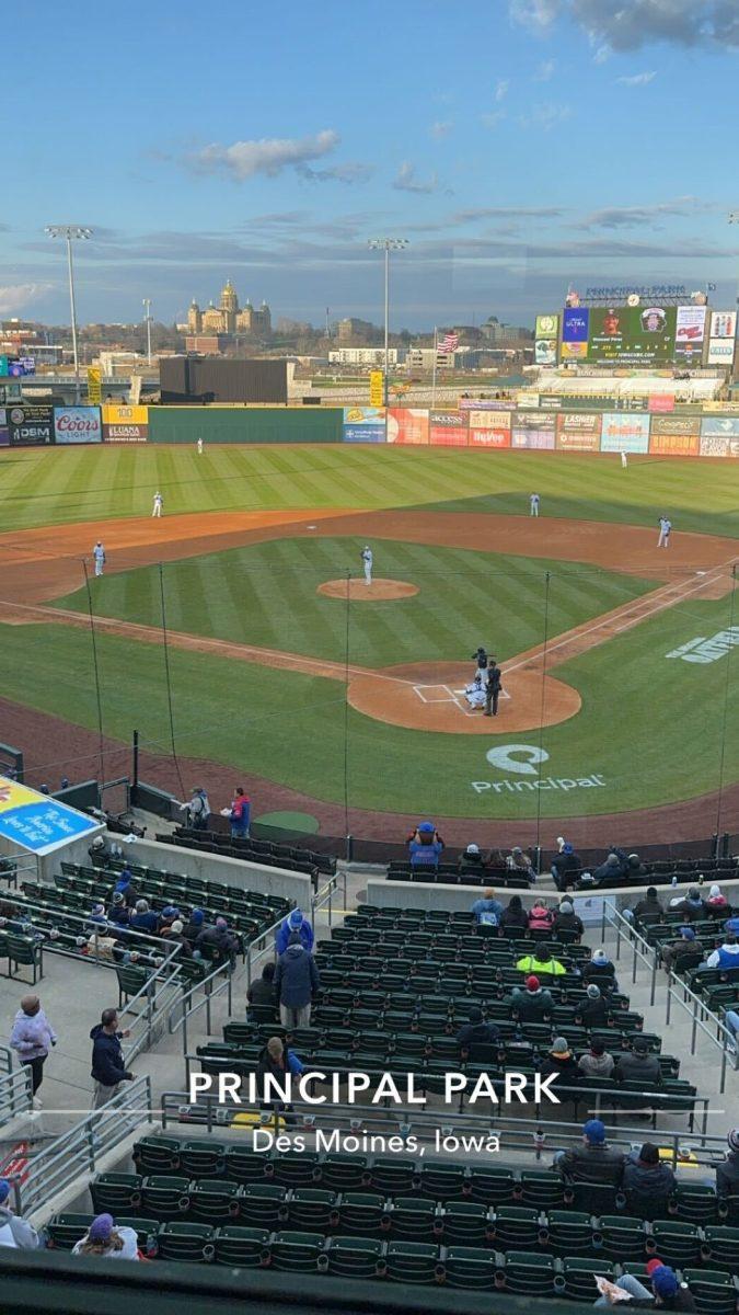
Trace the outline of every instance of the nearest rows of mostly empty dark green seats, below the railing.
{"label": "nearest rows of mostly empty dark green seats, below the railing", "polygon": [[[145,1137],[134,1173],[101,1174],[95,1212],[138,1232],[159,1261],[377,1278],[590,1303],[594,1278],[679,1268],[700,1312],[734,1315],[739,1228],[713,1189],[679,1186],[661,1215],[629,1215],[615,1189],[597,1208],[551,1169],[384,1155],[259,1155],[241,1144]],[[92,1214],[49,1224],[68,1249]]]}

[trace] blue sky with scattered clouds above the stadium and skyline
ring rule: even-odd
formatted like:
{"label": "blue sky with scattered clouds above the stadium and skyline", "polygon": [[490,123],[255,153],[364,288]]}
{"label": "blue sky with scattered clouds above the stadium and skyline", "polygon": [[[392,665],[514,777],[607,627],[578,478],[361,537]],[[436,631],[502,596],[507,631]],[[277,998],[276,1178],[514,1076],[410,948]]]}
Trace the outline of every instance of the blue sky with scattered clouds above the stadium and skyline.
{"label": "blue sky with scattered clouds above the stadium and skyline", "polygon": [[[569,283],[710,280],[732,306],[736,0],[45,5],[4,134],[0,316],[533,323]],[[5,85],[4,99],[12,87]],[[732,183],[734,176],[734,183]]]}

